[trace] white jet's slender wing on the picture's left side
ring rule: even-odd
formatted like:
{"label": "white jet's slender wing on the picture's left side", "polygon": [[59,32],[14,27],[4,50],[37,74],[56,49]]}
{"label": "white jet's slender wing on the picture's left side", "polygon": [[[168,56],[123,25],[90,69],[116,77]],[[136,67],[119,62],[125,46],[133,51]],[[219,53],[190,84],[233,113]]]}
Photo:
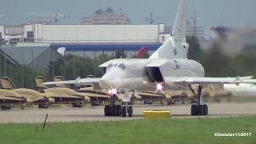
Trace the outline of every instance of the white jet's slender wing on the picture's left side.
{"label": "white jet's slender wing on the picture's left side", "polygon": [[75,80],[70,81],[58,81],[58,82],[44,82],[42,85],[56,85],[56,84],[76,84],[76,85],[83,85],[83,84],[94,84],[98,83],[100,78],[77,78]]}

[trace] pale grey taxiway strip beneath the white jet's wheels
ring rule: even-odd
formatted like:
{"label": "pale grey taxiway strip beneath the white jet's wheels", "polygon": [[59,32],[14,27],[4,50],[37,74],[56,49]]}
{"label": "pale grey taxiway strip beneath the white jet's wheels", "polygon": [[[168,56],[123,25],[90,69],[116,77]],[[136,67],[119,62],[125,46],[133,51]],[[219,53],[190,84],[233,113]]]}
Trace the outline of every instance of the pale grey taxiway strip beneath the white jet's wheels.
{"label": "pale grey taxiway strip beneath the white jet's wheels", "polygon": [[[256,102],[253,103],[211,103],[209,115],[203,117],[223,117],[236,115],[256,115]],[[171,118],[193,118],[190,116],[190,106],[134,106],[133,118],[105,117],[104,106],[85,106],[82,109],[70,107],[50,108],[38,110],[30,108],[25,110],[0,111],[0,123],[44,122],[82,122],[82,121],[117,121],[143,118],[143,110],[170,110]]]}

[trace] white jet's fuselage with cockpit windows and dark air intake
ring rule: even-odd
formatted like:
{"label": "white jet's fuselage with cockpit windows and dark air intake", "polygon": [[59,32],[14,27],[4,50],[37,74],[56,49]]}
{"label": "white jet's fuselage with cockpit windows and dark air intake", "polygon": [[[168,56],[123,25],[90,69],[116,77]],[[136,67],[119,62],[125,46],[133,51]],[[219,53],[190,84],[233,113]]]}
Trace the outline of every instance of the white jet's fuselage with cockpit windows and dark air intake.
{"label": "white jet's fuselage with cockpit windows and dark air intake", "polygon": [[[202,65],[190,59],[139,59],[120,58],[103,63],[106,73],[100,86],[106,90],[156,90],[158,83],[164,85],[165,77],[203,77]],[[182,86],[168,85],[172,90]]]}

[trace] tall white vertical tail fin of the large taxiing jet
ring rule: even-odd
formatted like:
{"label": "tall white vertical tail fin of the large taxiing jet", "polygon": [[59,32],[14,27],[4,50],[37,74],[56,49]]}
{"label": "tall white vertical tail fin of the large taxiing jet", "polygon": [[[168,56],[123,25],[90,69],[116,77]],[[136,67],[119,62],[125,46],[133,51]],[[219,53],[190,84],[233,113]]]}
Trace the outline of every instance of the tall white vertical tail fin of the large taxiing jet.
{"label": "tall white vertical tail fin of the large taxiing jet", "polygon": [[187,58],[189,48],[188,43],[186,43],[187,7],[188,0],[180,0],[170,38],[168,38],[150,58]]}

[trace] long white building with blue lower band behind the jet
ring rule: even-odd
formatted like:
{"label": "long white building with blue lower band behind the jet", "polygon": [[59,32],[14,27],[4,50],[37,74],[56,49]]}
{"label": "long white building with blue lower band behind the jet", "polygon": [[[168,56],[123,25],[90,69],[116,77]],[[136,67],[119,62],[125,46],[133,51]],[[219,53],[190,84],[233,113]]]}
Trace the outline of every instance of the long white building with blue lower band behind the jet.
{"label": "long white building with blue lower band behind the jet", "polygon": [[[125,50],[134,55],[142,46],[154,51],[162,43],[164,25],[44,25],[0,26],[1,46],[40,46],[66,48],[66,54],[75,53],[97,57]],[[86,52],[86,53],[84,53]]]}

